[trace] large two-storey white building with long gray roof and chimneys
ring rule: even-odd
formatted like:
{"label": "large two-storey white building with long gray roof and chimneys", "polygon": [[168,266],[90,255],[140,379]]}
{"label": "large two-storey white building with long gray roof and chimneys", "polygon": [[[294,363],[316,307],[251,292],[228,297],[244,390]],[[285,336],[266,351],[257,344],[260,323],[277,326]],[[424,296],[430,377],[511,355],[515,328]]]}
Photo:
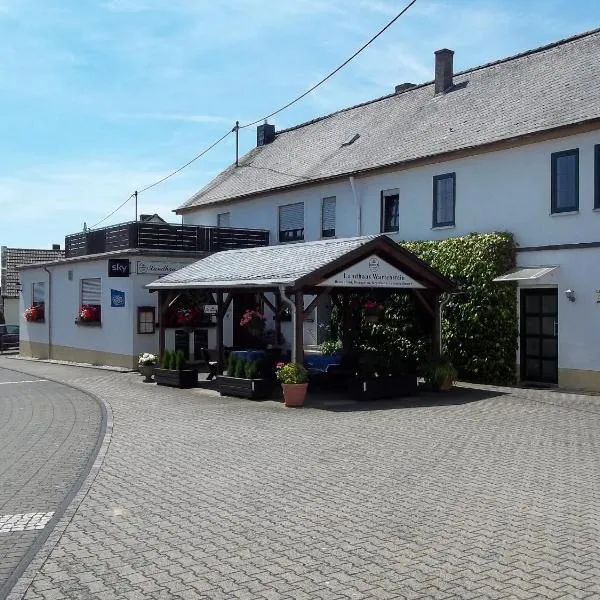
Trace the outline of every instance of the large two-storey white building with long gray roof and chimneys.
{"label": "large two-storey white building with long gray roof and chimneys", "polygon": [[[523,379],[600,390],[600,30],[275,132],[177,209],[273,243],[510,231]],[[500,283],[498,285],[501,285]],[[527,293],[525,293],[527,291]]]}

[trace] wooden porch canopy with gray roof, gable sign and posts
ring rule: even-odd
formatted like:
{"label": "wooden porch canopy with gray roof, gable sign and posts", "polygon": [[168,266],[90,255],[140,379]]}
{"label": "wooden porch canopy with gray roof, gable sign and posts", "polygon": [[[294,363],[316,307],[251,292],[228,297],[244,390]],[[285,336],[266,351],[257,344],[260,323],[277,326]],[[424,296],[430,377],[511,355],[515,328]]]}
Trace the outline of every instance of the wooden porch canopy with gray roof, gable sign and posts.
{"label": "wooden porch canopy with gray roof, gable sign and posts", "polygon": [[[165,344],[163,315],[184,290],[205,290],[217,297],[217,346],[223,364],[223,317],[236,292],[273,292],[277,306],[292,308],[293,358],[304,356],[303,322],[323,293],[387,289],[414,294],[434,319],[439,349],[439,297],[455,291],[441,273],[386,235],[321,240],[217,252],[146,286],[159,293],[159,349]],[[304,296],[315,296],[308,307]],[[279,332],[278,332],[279,333]]]}

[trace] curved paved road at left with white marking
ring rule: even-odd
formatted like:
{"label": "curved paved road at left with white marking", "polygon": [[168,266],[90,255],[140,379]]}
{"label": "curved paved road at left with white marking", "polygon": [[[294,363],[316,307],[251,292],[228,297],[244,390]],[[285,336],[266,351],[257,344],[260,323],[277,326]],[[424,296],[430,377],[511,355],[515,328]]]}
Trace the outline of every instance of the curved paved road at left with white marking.
{"label": "curved paved road at left with white marking", "polygon": [[0,368],[0,598],[84,474],[100,424],[86,394]]}

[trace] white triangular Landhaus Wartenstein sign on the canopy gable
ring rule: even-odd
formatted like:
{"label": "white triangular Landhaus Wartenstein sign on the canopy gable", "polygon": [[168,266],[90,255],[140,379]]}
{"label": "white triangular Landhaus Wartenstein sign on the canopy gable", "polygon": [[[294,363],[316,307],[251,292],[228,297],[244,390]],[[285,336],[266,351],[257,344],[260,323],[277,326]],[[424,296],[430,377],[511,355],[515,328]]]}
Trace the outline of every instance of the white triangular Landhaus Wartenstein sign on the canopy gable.
{"label": "white triangular Landhaus Wartenstein sign on the canopy gable", "polygon": [[323,287],[425,289],[424,285],[385,262],[379,256],[365,258],[319,285]]}

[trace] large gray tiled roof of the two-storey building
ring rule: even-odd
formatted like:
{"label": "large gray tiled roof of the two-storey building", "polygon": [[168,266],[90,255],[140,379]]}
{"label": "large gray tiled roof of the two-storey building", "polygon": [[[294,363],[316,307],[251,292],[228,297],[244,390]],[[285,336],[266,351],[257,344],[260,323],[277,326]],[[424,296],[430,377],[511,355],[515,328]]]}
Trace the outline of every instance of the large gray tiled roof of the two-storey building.
{"label": "large gray tiled roof of the two-storey building", "polygon": [[600,118],[599,57],[596,30],[280,131],[178,210]]}

